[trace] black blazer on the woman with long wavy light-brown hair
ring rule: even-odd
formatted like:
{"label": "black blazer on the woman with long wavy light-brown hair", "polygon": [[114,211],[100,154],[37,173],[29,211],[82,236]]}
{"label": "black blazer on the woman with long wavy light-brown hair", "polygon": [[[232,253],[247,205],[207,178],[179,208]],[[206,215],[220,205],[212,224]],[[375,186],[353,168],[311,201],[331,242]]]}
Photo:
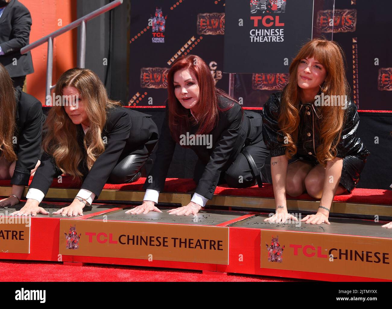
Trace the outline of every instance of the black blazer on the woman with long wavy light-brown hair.
{"label": "black blazer on the woman with long wavy light-brown hair", "polygon": [[[86,156],[83,146],[84,132],[82,125],[77,126],[78,144]],[[85,160],[79,165],[83,174],[82,189],[93,192],[96,196],[102,191],[110,173],[116,164],[129,154],[151,153],[158,141],[158,128],[151,115],[143,114],[130,108],[115,106],[107,111],[107,121],[102,137],[107,137],[105,151],[88,171]],[[72,154],[71,154],[72,155]],[[53,156],[43,153],[41,164],[34,174],[30,188],[41,190],[45,195],[62,171],[55,165]]]}

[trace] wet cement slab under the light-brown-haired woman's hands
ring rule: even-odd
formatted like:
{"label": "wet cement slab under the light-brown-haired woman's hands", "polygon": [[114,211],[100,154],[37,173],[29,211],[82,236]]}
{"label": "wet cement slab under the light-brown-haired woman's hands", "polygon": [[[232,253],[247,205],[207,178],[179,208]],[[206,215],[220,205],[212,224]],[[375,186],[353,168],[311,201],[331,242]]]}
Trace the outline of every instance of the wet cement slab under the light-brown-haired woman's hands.
{"label": "wet cement slab under the light-brown-haired woman's hands", "polygon": [[[68,216],[62,216],[61,214],[52,214],[54,211],[58,211],[62,207],[69,206],[71,203],[64,203],[64,204],[51,204],[51,203],[41,203],[40,207],[44,208],[46,211],[49,211],[49,214],[37,214],[36,217],[39,218],[77,218],[76,217],[68,217]],[[0,207],[0,216],[5,216],[8,214],[13,213],[14,211],[20,210],[23,206],[25,205],[25,202],[19,203],[17,205],[14,205],[12,207]],[[105,205],[91,205],[90,207],[86,206],[83,208],[83,216],[86,214],[92,214],[92,213],[97,213],[98,211],[103,211],[103,210],[110,210],[112,208],[116,208],[118,205],[110,205],[110,204],[105,204]]]}

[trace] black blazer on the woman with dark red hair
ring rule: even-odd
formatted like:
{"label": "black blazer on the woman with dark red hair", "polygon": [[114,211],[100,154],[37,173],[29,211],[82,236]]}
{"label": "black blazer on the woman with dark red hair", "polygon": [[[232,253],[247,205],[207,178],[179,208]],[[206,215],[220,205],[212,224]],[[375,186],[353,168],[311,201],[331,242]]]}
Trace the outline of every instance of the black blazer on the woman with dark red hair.
{"label": "black blazer on the woman with dark red hair", "polygon": [[[232,104],[232,101],[221,96],[219,104],[224,108]],[[191,116],[190,111],[189,116]],[[190,146],[197,154],[199,161],[205,166],[194,177],[194,180],[198,183],[195,192],[205,198],[211,200],[222,171],[226,171],[229,168],[245,143],[248,124],[246,120],[243,121],[243,118],[245,119],[245,115],[243,117],[241,105],[234,103],[229,110],[219,113],[218,124],[210,133],[212,135],[211,148],[207,148],[206,145]],[[171,136],[168,119],[168,108],[166,107],[166,117],[163,120],[156,160],[149,175],[152,178],[147,177],[144,189],[163,191],[167,171],[169,170],[176,146],[176,142]],[[197,129],[198,125],[192,126],[189,135],[195,134]]]}

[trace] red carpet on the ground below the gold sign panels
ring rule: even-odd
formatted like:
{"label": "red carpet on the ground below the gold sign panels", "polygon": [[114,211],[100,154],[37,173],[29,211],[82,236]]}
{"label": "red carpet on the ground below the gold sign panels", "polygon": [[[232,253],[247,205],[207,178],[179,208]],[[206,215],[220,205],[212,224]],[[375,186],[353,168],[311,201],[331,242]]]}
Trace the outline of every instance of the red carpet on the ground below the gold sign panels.
{"label": "red carpet on the ground below the gold sign panels", "polygon": [[201,271],[52,262],[0,261],[1,282],[281,282],[301,281],[240,274],[215,275]]}

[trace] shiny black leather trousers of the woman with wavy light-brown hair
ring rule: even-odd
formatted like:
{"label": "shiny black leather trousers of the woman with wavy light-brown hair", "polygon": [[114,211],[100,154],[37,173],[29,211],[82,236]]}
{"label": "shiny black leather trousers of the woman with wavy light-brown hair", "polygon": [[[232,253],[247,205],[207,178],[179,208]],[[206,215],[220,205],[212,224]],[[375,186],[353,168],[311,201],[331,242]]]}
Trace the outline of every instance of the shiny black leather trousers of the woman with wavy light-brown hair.
{"label": "shiny black leather trousers of the woman with wavy light-brown hair", "polygon": [[[107,180],[108,184],[129,184],[138,180],[143,174],[143,167],[149,154],[129,154],[114,167]],[[144,175],[143,175],[144,176]]]}

